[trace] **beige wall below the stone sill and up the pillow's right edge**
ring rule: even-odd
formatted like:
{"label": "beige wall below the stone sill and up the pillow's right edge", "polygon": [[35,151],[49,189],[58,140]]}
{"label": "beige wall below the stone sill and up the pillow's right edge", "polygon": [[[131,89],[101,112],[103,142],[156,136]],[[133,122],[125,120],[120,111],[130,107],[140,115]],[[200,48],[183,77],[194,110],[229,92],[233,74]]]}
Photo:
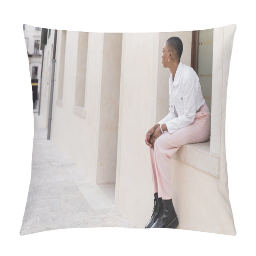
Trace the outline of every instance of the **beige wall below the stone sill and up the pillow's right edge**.
{"label": "beige wall below the stone sill and up the pillow's right edge", "polygon": [[229,202],[225,150],[227,83],[235,27],[215,28],[213,37],[212,130],[217,124],[219,132],[214,132],[211,140],[220,145],[213,151],[219,156],[218,178],[173,159],[173,202],[181,229],[236,234]]}

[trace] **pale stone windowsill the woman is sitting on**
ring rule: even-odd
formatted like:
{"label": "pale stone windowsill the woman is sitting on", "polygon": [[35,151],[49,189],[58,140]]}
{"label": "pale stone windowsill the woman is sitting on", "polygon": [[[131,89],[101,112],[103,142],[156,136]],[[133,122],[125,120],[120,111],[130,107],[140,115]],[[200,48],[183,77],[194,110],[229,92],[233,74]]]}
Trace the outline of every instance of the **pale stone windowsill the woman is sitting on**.
{"label": "pale stone windowsill the woman is sitting on", "polygon": [[210,139],[182,146],[172,158],[219,178],[220,157],[210,153]]}

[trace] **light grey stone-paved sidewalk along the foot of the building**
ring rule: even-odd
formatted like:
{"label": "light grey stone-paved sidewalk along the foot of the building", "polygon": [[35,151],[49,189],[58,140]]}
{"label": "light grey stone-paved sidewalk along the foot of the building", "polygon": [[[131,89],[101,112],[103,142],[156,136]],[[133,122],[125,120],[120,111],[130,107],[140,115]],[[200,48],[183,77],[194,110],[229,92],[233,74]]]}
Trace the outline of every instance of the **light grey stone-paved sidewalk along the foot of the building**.
{"label": "light grey stone-paved sidewalk along the foot of the building", "polygon": [[60,228],[136,228],[114,205],[114,190],[114,183],[90,183],[47,140],[47,128],[34,113],[32,173],[20,235]]}

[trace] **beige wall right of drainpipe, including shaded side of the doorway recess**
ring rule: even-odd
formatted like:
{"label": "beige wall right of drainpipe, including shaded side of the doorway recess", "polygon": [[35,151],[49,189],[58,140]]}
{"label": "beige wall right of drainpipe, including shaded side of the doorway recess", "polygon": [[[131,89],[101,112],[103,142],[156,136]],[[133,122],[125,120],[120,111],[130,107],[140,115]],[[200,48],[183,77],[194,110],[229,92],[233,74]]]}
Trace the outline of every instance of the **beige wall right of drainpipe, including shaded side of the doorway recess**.
{"label": "beige wall right of drainpipe, including shaded side of the doorway recess", "polygon": [[92,182],[115,182],[122,34],[89,33],[84,107],[75,106],[78,45],[79,33],[67,31],[62,101],[57,99],[60,51],[56,57],[51,139]]}

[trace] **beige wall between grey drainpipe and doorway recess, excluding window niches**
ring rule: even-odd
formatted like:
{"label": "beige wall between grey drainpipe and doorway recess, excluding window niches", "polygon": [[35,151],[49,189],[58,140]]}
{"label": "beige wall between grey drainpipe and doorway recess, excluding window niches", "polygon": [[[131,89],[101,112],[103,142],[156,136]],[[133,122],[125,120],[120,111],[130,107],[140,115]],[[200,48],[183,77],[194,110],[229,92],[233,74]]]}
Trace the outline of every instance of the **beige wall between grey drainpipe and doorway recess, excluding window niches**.
{"label": "beige wall between grey drainpipe and doorway recess, excluding window niches", "polygon": [[[74,111],[77,71],[78,32],[67,31],[63,83],[63,107],[54,104],[52,140],[84,171],[96,180],[99,140],[100,88],[103,33],[90,33],[85,84],[85,118]],[[58,47],[60,40],[58,41]],[[68,49],[68,50],[67,50]],[[58,74],[58,70],[57,70]],[[56,77],[58,77],[56,74]],[[58,81],[56,81],[56,87]],[[54,102],[57,100],[55,88]]]}

